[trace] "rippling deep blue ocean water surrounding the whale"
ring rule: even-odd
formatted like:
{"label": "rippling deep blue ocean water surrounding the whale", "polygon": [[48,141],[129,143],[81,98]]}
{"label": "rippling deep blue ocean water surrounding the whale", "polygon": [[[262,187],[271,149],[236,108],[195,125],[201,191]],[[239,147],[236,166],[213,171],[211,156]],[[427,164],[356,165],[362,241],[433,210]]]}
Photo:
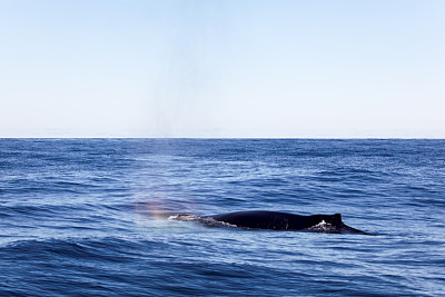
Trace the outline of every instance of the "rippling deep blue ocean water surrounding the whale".
{"label": "rippling deep blue ocean water surrounding the whale", "polygon": [[[340,212],[377,236],[172,214]],[[445,296],[445,140],[0,139],[0,296]]]}

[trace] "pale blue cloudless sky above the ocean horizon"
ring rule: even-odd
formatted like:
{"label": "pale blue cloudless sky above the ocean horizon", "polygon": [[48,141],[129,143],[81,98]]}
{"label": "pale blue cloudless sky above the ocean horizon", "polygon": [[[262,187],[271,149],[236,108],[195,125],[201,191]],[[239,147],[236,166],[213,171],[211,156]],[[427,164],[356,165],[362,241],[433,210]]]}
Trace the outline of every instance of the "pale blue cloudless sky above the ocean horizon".
{"label": "pale blue cloudless sky above the ocean horizon", "polygon": [[442,0],[0,0],[0,137],[445,138]]}

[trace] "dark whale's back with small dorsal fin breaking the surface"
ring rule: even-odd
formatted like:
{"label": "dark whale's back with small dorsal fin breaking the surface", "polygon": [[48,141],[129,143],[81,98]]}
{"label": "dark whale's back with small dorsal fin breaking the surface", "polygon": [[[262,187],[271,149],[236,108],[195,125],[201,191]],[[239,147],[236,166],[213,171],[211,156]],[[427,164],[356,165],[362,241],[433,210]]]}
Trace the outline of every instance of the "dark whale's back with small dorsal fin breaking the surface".
{"label": "dark whale's back with small dorsal fin breaking the surface", "polygon": [[249,210],[204,216],[200,220],[202,219],[245,229],[373,235],[344,224],[342,214],[303,216],[281,211]]}

